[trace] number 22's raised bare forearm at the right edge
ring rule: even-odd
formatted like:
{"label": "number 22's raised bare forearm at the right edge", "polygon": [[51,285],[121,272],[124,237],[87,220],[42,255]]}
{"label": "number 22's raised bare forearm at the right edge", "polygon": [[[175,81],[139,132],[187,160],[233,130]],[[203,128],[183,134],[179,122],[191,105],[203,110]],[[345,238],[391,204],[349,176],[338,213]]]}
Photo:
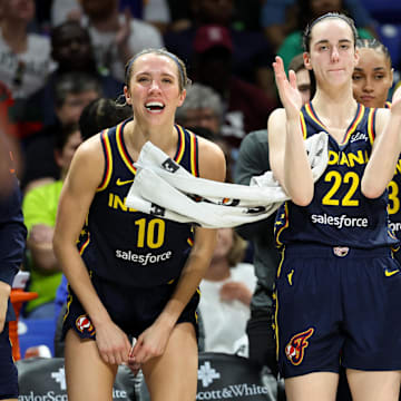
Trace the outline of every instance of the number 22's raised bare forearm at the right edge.
{"label": "number 22's raised bare forearm at the right edge", "polygon": [[376,137],[372,154],[361,180],[362,194],[376,198],[383,194],[395,170],[401,153],[401,98],[395,98],[391,109],[378,109]]}

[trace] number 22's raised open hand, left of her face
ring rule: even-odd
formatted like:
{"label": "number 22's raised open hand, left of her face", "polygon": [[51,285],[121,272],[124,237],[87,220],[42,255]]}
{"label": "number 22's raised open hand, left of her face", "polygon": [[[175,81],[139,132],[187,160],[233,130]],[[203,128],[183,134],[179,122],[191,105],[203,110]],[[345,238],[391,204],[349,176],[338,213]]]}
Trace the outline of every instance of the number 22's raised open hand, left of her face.
{"label": "number 22's raised open hand, left of her face", "polygon": [[302,96],[296,86],[295,72],[290,70],[287,78],[284,70],[283,59],[278,56],[276,56],[275,61],[273,62],[273,70],[280,100],[283,104],[287,116],[297,117],[302,107]]}

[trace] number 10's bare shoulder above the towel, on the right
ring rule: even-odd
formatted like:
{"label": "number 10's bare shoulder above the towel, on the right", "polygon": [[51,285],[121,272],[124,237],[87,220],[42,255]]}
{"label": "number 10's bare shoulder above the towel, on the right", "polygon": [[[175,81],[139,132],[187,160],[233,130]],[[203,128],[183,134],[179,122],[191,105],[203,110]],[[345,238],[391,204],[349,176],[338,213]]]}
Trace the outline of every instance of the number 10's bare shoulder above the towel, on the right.
{"label": "number 10's bare shoulder above the towel, on the right", "polygon": [[225,180],[226,160],[222,148],[213,141],[198,137],[199,176],[202,178]]}

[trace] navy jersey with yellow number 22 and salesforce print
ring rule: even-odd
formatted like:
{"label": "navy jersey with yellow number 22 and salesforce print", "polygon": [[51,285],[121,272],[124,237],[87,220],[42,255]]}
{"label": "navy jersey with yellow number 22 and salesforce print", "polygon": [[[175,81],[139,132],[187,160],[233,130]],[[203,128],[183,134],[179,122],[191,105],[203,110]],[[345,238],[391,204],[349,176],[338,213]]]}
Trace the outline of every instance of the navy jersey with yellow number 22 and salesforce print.
{"label": "navy jersey with yellow number 22 and salesforce print", "polygon": [[358,106],[354,119],[338,143],[329,135],[312,104],[301,110],[304,138],[320,131],[329,135],[329,164],[315,183],[309,206],[286,202],[275,223],[278,245],[320,243],[372,248],[397,245],[388,228],[388,193],[369,199],[362,195],[361,179],[372,151],[376,109]]}

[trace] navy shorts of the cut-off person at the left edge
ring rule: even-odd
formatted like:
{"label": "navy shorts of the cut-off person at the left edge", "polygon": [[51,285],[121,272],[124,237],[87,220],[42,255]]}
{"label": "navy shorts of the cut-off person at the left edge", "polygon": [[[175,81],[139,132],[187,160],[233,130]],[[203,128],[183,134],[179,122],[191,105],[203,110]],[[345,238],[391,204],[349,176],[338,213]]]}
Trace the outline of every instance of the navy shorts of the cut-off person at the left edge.
{"label": "navy shorts of the cut-off person at the left edge", "polygon": [[0,333],[0,400],[18,399],[18,371],[12,360],[8,323]]}

